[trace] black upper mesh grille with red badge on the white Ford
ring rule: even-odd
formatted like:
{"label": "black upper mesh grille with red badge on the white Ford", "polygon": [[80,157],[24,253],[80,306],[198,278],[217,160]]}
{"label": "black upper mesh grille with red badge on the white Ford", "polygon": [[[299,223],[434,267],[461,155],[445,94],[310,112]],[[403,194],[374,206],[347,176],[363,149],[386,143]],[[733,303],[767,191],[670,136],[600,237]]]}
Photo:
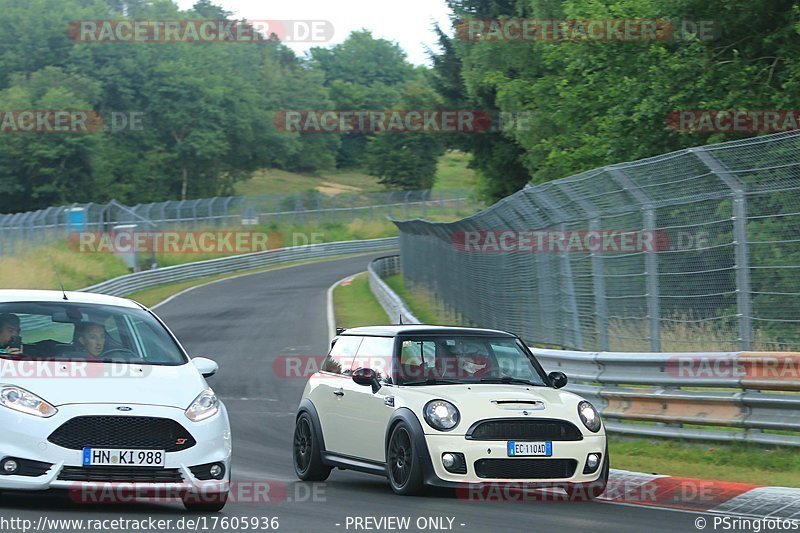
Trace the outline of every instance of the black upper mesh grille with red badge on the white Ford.
{"label": "black upper mesh grille with red badge on the white Ford", "polygon": [[169,418],[144,416],[79,416],[68,420],[48,438],[69,448],[125,448],[180,452],[197,442],[186,428]]}

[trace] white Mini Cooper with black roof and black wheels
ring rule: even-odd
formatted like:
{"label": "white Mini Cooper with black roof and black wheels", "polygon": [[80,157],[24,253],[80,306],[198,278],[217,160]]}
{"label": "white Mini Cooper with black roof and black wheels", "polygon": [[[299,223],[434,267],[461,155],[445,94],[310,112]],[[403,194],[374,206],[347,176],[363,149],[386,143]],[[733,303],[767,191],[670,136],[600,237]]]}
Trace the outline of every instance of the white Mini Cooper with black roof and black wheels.
{"label": "white Mini Cooper with black roof and black wheels", "polygon": [[556,486],[576,499],[606,487],[605,430],[595,408],[558,390],[522,341],[503,331],[425,325],[340,331],[297,412],[297,476],[332,468],[426,485]]}

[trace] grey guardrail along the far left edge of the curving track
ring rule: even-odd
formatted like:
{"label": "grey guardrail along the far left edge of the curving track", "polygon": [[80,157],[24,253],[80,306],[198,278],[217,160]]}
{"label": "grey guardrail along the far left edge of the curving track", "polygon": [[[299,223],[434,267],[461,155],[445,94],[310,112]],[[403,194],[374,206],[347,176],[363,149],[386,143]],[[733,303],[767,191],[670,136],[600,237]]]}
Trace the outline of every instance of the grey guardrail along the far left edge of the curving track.
{"label": "grey guardrail along the far left edge of the curving track", "polygon": [[325,259],[338,255],[380,252],[383,250],[395,249],[397,246],[397,237],[388,237],[385,239],[343,241],[280,248],[265,252],[234,255],[219,259],[186,263],[184,265],[134,272],[98,283],[97,285],[92,285],[91,287],[86,287],[85,289],[81,289],[81,291],[97,292],[110,296],[125,296],[166,283],[177,283],[219,274],[254,270],[293,261],[307,261]]}

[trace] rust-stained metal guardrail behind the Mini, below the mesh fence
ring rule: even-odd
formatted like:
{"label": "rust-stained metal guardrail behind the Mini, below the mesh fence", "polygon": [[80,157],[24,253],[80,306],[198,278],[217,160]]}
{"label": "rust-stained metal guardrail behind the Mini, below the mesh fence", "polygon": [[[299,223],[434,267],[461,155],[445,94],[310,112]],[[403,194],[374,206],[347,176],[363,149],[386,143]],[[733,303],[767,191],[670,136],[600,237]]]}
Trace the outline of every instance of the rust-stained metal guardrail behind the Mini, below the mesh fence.
{"label": "rust-stained metal guardrail behind the Mini, below the mesh fence", "polygon": [[[381,277],[398,256],[370,263],[370,287],[390,317],[419,320]],[[800,353],[630,353],[531,348],[566,389],[591,401],[606,429],[627,435],[800,446]],[[781,432],[781,433],[776,433]]]}

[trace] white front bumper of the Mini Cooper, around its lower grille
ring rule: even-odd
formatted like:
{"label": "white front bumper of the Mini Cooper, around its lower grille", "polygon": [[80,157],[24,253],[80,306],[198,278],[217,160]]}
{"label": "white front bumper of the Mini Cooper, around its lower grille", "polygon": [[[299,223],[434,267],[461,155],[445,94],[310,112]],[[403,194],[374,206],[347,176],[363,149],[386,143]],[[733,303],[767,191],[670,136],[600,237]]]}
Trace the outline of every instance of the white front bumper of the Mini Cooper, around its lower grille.
{"label": "white front bumper of the Mini Cooper, around its lower grille", "polygon": [[[555,441],[550,457],[509,457],[507,441],[470,440],[464,435],[425,435],[432,470],[428,485],[457,487],[477,484],[516,484],[554,487],[597,482],[603,475],[605,435],[584,436],[580,441]],[[466,473],[448,471],[444,454],[463,454]],[[584,474],[589,454],[600,454],[600,465]],[[528,477],[530,475],[531,477]],[[542,477],[544,476],[544,477]]]}

